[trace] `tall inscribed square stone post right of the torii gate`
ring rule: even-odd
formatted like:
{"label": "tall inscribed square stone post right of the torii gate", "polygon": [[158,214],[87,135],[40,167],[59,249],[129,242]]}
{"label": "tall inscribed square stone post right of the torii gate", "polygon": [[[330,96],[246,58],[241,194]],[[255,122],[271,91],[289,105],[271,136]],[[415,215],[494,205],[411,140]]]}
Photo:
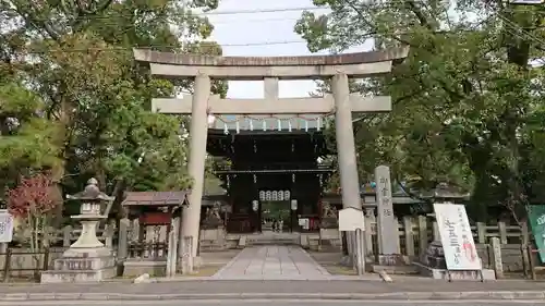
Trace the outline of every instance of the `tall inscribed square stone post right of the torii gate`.
{"label": "tall inscribed square stone post right of the torii gate", "polygon": [[391,201],[390,169],[386,166],[378,166],[375,169],[375,181],[377,184],[378,254],[399,255],[399,232]]}

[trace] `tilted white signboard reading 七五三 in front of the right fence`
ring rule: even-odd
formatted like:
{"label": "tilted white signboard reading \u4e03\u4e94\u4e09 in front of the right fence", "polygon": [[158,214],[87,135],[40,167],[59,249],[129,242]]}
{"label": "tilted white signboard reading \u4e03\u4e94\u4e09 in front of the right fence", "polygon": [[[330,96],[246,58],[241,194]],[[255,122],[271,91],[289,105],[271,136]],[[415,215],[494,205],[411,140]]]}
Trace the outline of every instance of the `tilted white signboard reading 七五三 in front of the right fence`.
{"label": "tilted white signboard reading \u4e03\u4e94\u4e09 in front of the right fence", "polygon": [[481,270],[465,207],[455,204],[434,204],[445,260],[449,270]]}

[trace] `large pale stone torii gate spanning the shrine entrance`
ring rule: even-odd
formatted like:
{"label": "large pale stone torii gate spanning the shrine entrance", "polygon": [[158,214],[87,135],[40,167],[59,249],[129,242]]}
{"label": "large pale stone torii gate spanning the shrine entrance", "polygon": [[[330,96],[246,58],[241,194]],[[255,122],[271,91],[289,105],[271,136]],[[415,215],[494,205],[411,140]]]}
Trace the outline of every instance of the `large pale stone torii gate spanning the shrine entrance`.
{"label": "large pale stone torii gate spanning the shrine entrance", "polygon": [[[189,173],[194,183],[182,217],[184,236],[198,238],[208,115],[215,114],[327,114],[335,113],[337,154],[343,207],[361,209],[352,112],[388,112],[390,97],[362,97],[349,93],[349,77],[389,73],[409,48],[336,56],[211,57],[134,49],[138,62],[166,78],[194,78],[194,94],[183,99],[154,99],[153,111],[191,114]],[[220,99],[210,95],[210,79],[265,81],[265,99]],[[331,81],[332,95],[318,98],[279,98],[279,79]],[[272,130],[272,128],[271,128]],[[195,256],[196,248],[193,249]]]}

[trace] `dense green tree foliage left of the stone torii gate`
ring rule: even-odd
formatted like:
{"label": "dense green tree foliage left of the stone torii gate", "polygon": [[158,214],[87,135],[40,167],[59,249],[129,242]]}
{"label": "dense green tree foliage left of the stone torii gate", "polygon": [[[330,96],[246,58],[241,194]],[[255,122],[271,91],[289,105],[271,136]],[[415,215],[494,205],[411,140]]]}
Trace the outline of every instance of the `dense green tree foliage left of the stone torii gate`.
{"label": "dense green tree foliage left of the stone torii gate", "polygon": [[[92,11],[66,10],[66,1],[0,1],[7,28],[0,34],[0,77],[21,79],[19,88],[39,101],[48,128],[35,128],[51,149],[32,150],[40,145],[32,138],[20,138],[21,146],[37,160],[58,161],[47,164],[59,183],[57,201],[92,175],[117,196],[117,211],[126,188],[189,187],[186,142],[180,135],[185,118],[150,113],[149,101],[191,90],[192,84],[150,77],[134,62],[132,48],[219,54],[218,45],[198,41],[213,27],[193,13],[214,9],[217,1],[113,1]],[[185,37],[195,41],[182,44]],[[227,87],[216,83],[214,89],[225,95]],[[20,122],[23,135],[32,125]],[[11,147],[1,154],[5,164],[15,156]],[[25,161],[17,172],[43,167]]]}

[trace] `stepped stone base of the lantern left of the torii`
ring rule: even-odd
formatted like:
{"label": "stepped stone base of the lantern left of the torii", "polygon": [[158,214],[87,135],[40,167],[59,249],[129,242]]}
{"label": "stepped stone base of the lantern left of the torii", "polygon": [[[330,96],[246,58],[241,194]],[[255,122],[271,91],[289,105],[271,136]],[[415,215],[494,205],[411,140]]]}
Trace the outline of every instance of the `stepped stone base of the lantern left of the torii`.
{"label": "stepped stone base of the lantern left of the torii", "polygon": [[116,259],[106,247],[69,248],[41,272],[41,283],[100,282],[117,274]]}

